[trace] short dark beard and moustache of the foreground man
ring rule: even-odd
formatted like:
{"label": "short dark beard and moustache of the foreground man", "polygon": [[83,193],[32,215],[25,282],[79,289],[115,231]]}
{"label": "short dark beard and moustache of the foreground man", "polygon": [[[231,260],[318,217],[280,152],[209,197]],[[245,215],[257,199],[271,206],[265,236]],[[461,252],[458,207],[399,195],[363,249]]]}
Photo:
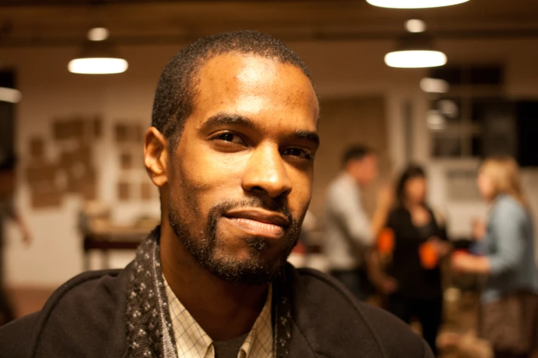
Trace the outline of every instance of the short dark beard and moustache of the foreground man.
{"label": "short dark beard and moustache of the foreground man", "polygon": [[[184,207],[190,207],[194,213],[200,212],[194,198],[185,199],[186,206]],[[194,259],[213,276],[229,283],[262,285],[273,281],[282,273],[300,234],[302,218],[294,219],[281,200],[271,200],[269,203],[262,198],[253,197],[247,200],[220,202],[212,206],[205,220],[205,228],[197,232],[193,232],[192,225],[186,222],[175,208],[171,197],[168,202],[170,203],[168,206],[170,226],[189,254],[194,256]],[[221,252],[226,246],[226,240],[219,236],[218,220],[233,208],[245,207],[265,208],[288,218],[289,226],[284,234],[284,243],[276,255],[264,256],[276,244],[274,240],[251,235],[243,238],[249,251],[247,258],[236,259],[229,254],[226,255],[226,250]]]}

